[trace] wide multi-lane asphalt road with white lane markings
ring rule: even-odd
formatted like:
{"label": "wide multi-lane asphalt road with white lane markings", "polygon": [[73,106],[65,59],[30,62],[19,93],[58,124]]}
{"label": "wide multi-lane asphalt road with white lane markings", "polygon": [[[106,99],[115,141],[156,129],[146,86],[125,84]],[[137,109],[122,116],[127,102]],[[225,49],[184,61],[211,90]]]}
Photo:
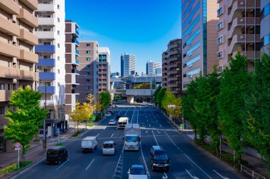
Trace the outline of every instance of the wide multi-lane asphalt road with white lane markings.
{"label": "wide multi-lane asphalt road with white lane markings", "polygon": [[[124,130],[108,126],[108,121],[117,114],[129,117],[130,123],[141,127],[141,146],[139,151],[124,151]],[[82,154],[80,140],[87,136],[97,136],[98,149],[93,153]],[[150,178],[244,178],[232,168],[198,149],[191,139],[180,134],[168,123],[166,117],[156,108],[119,107],[114,115],[107,117],[84,136],[61,139],[68,150],[69,160],[61,165],[46,165],[45,160],[37,163],[16,178],[128,178],[127,171],[133,164],[146,166]],[[102,156],[102,143],[107,140],[117,142],[117,154]],[[167,173],[153,172],[150,166],[150,149],[161,145],[171,158]]]}

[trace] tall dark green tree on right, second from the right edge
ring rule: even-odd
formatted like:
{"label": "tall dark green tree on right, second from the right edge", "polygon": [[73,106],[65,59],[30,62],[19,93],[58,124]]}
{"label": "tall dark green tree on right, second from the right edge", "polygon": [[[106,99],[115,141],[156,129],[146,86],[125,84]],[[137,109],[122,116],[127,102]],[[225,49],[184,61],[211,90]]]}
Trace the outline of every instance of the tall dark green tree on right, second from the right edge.
{"label": "tall dark green tree on right, second from the right edge", "polygon": [[229,146],[237,151],[239,163],[245,146],[244,124],[247,122],[244,96],[249,93],[250,74],[247,59],[239,53],[231,58],[229,68],[222,72],[220,94],[217,98],[219,123]]}

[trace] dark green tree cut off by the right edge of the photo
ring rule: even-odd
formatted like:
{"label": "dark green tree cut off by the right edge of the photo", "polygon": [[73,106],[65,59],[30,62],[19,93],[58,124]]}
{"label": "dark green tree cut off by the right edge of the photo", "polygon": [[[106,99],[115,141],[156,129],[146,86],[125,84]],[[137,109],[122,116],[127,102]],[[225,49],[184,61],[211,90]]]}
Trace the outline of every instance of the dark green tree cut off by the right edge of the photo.
{"label": "dark green tree cut off by the right edge of the photo", "polygon": [[266,54],[255,64],[250,88],[252,93],[246,96],[247,136],[265,158],[270,171],[270,57]]}

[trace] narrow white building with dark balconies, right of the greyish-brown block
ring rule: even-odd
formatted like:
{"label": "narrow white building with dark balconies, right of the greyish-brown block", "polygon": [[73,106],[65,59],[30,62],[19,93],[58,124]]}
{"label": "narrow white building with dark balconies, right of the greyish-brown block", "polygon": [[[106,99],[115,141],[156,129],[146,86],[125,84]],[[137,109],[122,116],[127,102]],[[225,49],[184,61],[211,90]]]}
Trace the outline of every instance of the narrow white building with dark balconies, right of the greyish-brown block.
{"label": "narrow white building with dark balconies, right of the greyish-brown block", "polygon": [[110,89],[111,52],[108,47],[99,47],[99,93]]}

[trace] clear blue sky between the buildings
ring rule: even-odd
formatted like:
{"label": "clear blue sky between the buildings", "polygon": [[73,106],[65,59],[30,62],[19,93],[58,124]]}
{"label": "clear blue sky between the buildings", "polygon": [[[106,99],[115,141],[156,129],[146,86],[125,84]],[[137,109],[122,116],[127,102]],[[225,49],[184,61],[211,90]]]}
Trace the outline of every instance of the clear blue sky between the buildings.
{"label": "clear blue sky between the buildings", "polygon": [[180,0],[65,1],[66,19],[80,28],[80,40],[96,40],[111,51],[111,71],[120,71],[122,53],[136,55],[136,70],[161,62],[170,40],[180,38]]}

